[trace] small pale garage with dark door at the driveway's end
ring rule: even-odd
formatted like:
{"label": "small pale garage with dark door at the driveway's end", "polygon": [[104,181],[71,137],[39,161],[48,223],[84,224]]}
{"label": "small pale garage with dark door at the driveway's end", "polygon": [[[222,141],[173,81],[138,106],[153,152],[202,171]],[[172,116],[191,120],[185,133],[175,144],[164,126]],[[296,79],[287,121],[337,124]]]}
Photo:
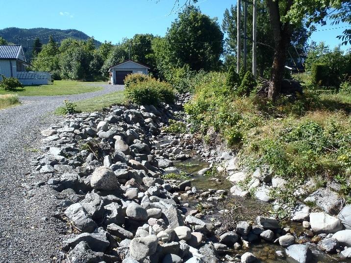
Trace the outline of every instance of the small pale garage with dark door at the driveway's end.
{"label": "small pale garage with dark door at the driveway's end", "polygon": [[109,69],[112,84],[124,84],[125,76],[132,73],[148,75],[149,67],[133,60],[127,60]]}

